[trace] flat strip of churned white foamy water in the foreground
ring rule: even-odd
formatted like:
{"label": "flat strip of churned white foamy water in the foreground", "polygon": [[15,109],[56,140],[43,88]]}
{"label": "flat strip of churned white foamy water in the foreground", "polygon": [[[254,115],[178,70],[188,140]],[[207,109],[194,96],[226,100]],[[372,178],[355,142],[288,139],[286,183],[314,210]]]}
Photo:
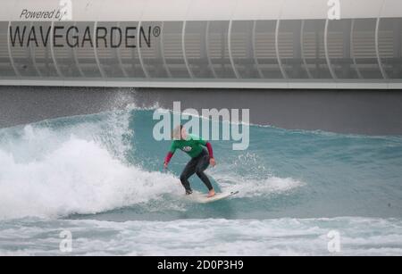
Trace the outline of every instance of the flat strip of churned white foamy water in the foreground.
{"label": "flat strip of churned white foamy water in the foreground", "polygon": [[[57,255],[58,233],[73,237],[71,255],[401,255],[402,221],[369,218],[276,220],[8,221],[5,255]],[[339,253],[327,237],[339,231]],[[38,234],[40,237],[38,237]]]}

